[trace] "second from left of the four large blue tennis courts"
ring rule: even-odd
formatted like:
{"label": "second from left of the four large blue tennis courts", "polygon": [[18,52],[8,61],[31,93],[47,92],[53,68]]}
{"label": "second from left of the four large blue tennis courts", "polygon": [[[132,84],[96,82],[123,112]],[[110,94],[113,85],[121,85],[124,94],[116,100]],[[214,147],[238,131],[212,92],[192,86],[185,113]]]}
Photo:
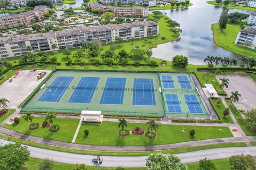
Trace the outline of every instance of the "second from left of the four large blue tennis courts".
{"label": "second from left of the four large blue tennis courts", "polygon": [[99,80],[98,77],[82,77],[77,87],[73,87],[75,91],[69,98],[68,103],[91,103]]}

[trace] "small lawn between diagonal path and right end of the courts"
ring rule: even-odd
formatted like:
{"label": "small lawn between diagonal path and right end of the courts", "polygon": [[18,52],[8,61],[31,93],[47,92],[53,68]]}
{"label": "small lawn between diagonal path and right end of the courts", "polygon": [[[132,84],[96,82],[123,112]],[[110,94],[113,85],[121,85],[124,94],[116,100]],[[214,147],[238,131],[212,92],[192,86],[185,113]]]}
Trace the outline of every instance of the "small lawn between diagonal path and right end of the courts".
{"label": "small lawn between diagonal path and right end of the courts", "polygon": [[233,120],[231,119],[230,115],[224,117],[223,116],[223,112],[226,109],[226,107],[223,105],[223,103],[221,102],[220,105],[217,105],[218,99],[213,99],[210,98],[210,102],[212,104],[212,106],[214,107],[215,111],[217,112],[218,116],[220,117],[220,119],[223,121],[223,123],[234,123]]}

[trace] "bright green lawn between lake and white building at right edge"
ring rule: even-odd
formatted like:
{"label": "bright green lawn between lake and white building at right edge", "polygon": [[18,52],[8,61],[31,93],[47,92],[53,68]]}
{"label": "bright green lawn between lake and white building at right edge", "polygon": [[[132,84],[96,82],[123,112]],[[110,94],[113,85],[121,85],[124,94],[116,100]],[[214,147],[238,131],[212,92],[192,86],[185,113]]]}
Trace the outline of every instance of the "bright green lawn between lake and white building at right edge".
{"label": "bright green lawn between lake and white building at right edge", "polygon": [[[212,24],[213,39],[214,43],[224,49],[229,50],[230,52],[243,55],[246,57],[256,56],[256,50],[249,49],[243,46],[234,44],[236,40],[237,33],[241,30],[239,24],[242,22],[231,23],[228,22],[227,29],[224,29],[222,32],[219,29],[218,23]],[[245,25],[246,23],[243,22]]]}

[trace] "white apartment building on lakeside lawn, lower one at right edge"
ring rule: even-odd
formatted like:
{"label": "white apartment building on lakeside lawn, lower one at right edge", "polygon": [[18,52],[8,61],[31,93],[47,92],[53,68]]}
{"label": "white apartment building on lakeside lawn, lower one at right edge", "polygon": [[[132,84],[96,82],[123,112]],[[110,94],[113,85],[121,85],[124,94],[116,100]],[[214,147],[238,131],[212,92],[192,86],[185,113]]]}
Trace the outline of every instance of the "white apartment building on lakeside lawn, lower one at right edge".
{"label": "white apartment building on lakeside lawn, lower one at right edge", "polygon": [[255,28],[245,28],[238,32],[235,44],[241,45],[242,43],[252,43],[253,45],[250,48],[255,49],[255,46],[256,46],[255,36],[256,36]]}

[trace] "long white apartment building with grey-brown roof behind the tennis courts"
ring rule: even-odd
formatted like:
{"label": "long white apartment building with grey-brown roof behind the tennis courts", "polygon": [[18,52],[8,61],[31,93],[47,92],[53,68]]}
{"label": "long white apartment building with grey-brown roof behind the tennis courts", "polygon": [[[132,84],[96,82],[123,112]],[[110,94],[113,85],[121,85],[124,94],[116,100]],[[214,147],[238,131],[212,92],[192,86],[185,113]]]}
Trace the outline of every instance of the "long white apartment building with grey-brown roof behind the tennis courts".
{"label": "long white apartment building with grey-brown roof behind the tennis courts", "polygon": [[157,36],[159,25],[154,21],[109,24],[94,27],[76,28],[62,31],[50,31],[33,35],[0,37],[0,58],[19,56],[28,52],[31,46],[33,52],[51,51],[52,44],[57,49],[68,49],[83,46],[85,40],[98,40],[103,43],[115,41],[116,37],[124,40]]}

